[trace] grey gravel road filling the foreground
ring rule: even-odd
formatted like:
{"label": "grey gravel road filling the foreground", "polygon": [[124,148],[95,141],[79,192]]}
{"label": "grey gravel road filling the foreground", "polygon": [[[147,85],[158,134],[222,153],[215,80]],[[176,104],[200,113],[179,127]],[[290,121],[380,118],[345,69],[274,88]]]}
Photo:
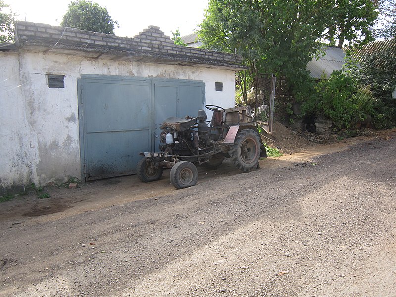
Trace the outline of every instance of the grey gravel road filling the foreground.
{"label": "grey gravel road filling the foreground", "polygon": [[335,147],[2,203],[0,296],[396,296],[395,134]]}

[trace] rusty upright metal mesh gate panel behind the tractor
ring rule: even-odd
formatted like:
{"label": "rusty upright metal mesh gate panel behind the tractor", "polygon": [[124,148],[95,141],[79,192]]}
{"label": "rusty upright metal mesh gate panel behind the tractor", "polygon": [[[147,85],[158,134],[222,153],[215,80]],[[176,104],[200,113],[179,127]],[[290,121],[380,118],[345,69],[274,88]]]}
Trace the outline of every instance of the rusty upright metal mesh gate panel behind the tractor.
{"label": "rusty upright metal mesh gate panel behind the tractor", "polygon": [[267,133],[272,133],[276,78],[272,74],[259,74],[255,79],[254,120]]}

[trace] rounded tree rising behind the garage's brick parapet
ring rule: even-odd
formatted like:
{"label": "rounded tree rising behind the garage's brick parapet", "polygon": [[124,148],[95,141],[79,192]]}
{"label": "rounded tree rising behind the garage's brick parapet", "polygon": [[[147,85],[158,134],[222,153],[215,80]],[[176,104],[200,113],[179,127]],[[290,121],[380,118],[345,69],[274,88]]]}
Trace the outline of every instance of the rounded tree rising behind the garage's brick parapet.
{"label": "rounded tree rising behind the garage's brick parapet", "polygon": [[105,7],[86,0],[71,1],[60,23],[63,27],[114,34],[118,21],[112,20]]}

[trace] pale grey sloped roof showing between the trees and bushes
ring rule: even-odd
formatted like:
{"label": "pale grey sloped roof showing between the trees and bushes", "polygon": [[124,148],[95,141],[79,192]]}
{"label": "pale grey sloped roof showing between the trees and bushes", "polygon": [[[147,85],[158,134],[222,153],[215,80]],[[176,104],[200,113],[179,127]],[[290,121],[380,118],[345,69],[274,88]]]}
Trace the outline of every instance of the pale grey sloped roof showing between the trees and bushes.
{"label": "pale grey sloped roof showing between the trees and bushes", "polygon": [[314,58],[308,62],[306,70],[311,73],[313,78],[329,78],[333,71],[342,69],[345,63],[344,58],[345,53],[342,49],[328,46],[319,59]]}

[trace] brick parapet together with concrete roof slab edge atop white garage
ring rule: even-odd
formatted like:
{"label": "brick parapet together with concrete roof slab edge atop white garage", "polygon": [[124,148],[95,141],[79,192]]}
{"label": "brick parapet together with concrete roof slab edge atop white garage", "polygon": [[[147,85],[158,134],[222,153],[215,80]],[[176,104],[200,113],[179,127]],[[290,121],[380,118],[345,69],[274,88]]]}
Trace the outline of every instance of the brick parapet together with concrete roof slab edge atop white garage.
{"label": "brick parapet together with concrete roof slab edge atop white garage", "polygon": [[15,44],[3,44],[4,49],[31,48],[63,54],[74,54],[75,51],[78,51],[87,57],[121,61],[233,71],[247,69],[242,65],[241,56],[175,45],[169,36],[166,36],[156,26],[149,26],[143,32],[129,38],[75,28],[17,21],[15,39]]}

